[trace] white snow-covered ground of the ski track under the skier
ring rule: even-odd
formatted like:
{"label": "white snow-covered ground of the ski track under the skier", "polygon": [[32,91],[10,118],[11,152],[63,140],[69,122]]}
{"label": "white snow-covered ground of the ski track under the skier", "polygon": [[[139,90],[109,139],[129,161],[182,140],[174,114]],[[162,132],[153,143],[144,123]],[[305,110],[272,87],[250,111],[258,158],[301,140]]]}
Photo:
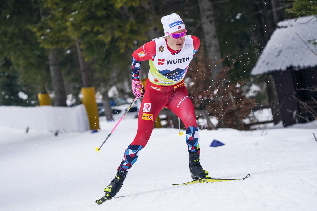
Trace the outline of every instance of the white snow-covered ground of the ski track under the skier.
{"label": "white snow-covered ground of the ski track under the skier", "polygon": [[[134,115],[134,114],[133,114]],[[133,140],[127,115],[98,133],[53,133],[0,127],[0,210],[316,210],[317,127],[298,124],[265,131],[200,131],[201,164],[211,177],[243,181],[172,186],[191,180],[185,136],[155,128],[120,192],[94,203],[114,178]],[[316,122],[315,122],[316,124]],[[216,139],[225,145],[210,147]]]}

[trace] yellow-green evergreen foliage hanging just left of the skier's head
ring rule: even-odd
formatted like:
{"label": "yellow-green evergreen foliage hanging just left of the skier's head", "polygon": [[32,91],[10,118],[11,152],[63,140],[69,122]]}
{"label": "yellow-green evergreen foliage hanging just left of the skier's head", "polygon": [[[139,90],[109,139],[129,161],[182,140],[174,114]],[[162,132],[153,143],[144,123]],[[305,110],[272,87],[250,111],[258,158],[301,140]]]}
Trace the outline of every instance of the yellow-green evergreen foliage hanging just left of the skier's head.
{"label": "yellow-green evergreen foliage hanging just left of the skier's head", "polygon": [[[145,40],[143,34],[148,28],[146,24],[136,22],[146,20],[146,13],[137,11],[141,11],[145,4],[146,1],[45,2],[51,22],[59,22],[67,30],[59,35],[67,34],[70,44],[75,43],[83,87],[97,85],[103,98],[108,99],[111,85],[123,84],[131,78],[132,48],[139,40]],[[41,30],[41,33],[45,31]],[[104,105],[111,111],[107,100]],[[111,114],[108,116],[112,118]]]}

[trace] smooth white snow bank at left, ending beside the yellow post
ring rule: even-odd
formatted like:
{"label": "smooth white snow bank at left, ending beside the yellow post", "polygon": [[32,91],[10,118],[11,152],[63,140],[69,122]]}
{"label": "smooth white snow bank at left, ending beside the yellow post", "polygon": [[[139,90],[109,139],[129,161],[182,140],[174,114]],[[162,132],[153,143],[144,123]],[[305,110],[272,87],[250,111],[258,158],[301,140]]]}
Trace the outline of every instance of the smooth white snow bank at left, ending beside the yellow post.
{"label": "smooth white snow bank at left, ending beside the yellow post", "polygon": [[0,106],[0,126],[61,132],[83,132],[90,129],[84,105],[74,107]]}

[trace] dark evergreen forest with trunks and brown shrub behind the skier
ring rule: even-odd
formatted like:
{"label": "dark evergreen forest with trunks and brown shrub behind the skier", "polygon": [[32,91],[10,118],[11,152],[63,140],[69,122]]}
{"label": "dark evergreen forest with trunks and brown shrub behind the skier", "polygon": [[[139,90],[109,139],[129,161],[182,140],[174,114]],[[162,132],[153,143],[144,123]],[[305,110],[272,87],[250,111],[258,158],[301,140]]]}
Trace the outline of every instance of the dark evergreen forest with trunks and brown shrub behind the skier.
{"label": "dark evergreen forest with trunks and brown shrub behind the skier", "polygon": [[[276,23],[316,15],[316,5],[316,0],[3,0],[0,105],[36,106],[38,93],[49,93],[55,106],[77,105],[81,88],[92,86],[105,107],[113,87],[115,97],[132,97],[133,51],[162,36],[161,17],[177,13],[187,33],[201,40],[185,78],[195,108],[216,116],[220,127],[243,129],[237,122],[268,104],[265,76],[251,77],[250,71]],[[147,71],[142,62],[140,78]]]}

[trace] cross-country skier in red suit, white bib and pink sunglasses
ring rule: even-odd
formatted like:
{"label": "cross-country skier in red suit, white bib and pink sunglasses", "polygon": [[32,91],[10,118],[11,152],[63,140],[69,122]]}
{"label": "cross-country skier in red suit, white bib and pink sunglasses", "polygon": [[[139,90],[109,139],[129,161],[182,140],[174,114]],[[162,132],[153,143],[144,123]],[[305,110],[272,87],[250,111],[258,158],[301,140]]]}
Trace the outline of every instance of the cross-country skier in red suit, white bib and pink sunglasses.
{"label": "cross-country skier in red suit, white bib and pink sunglasses", "polygon": [[[171,109],[186,127],[191,177],[208,177],[208,171],[199,163],[199,133],[195,111],[184,84],[188,65],[199,47],[200,40],[186,35],[184,22],[175,13],[162,17],[161,21],[165,36],[147,42],[132,54],[133,94],[143,96],[138,132],[124,152],[116,176],[104,190],[105,196],[96,201],[98,204],[111,199],[121,189],[128,171],[138,159],[141,149],[146,146],[153,123],[163,107]],[[149,60],[150,65],[145,88],[139,80],[140,62],[144,60]]]}

